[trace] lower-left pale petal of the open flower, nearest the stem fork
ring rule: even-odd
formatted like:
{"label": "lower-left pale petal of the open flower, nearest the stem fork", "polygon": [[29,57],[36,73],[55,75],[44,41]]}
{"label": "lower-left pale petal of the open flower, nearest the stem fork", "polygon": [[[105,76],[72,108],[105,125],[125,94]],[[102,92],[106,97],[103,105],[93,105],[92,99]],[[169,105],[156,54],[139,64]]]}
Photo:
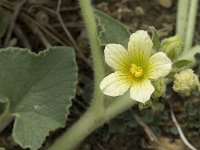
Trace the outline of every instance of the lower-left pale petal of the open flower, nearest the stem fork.
{"label": "lower-left pale petal of the open flower, nearest the stem fork", "polygon": [[123,95],[130,87],[126,74],[116,71],[105,77],[100,83],[102,92],[109,96]]}

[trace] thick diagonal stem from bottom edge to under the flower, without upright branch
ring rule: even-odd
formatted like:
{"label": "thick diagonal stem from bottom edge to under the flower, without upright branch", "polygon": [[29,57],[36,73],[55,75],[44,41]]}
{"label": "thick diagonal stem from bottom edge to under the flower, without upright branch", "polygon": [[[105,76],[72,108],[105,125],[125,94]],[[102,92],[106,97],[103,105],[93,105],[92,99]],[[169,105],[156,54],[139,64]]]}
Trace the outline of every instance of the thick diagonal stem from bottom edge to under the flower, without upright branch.
{"label": "thick diagonal stem from bottom edge to under the flower, without upright branch", "polygon": [[105,113],[96,114],[93,109],[89,109],[49,150],[73,150],[94,130],[135,104],[135,101],[126,96],[116,98]]}

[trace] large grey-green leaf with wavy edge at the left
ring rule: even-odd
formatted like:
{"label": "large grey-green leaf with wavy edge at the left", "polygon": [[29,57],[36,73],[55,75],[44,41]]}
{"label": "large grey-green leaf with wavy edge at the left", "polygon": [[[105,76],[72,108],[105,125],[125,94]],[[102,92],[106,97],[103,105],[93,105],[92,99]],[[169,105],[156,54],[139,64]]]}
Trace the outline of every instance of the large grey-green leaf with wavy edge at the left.
{"label": "large grey-green leaf with wavy edge at the left", "polygon": [[15,116],[14,140],[37,150],[49,131],[65,125],[77,82],[74,50],[1,49],[0,70],[0,95],[8,98]]}

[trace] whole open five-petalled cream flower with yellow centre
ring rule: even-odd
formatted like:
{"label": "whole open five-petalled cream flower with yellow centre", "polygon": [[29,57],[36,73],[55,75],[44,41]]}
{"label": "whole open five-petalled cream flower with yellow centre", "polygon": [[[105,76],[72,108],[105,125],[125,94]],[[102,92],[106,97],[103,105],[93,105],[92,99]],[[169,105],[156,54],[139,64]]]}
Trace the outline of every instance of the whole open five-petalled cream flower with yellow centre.
{"label": "whole open five-petalled cream flower with yellow centre", "polygon": [[152,55],[152,46],[151,38],[143,30],[130,36],[128,50],[120,44],[106,45],[105,61],[115,72],[102,80],[102,92],[109,96],[119,96],[130,88],[133,100],[142,103],[148,101],[155,90],[151,80],[165,77],[172,66],[165,53]]}

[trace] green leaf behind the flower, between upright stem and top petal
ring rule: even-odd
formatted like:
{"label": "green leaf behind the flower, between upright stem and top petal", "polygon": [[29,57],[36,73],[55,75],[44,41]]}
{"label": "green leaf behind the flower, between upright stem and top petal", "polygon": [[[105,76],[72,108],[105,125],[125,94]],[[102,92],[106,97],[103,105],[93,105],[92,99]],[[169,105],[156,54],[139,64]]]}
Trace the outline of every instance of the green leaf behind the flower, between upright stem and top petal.
{"label": "green leaf behind the flower, between upright stem and top petal", "polygon": [[95,16],[100,28],[99,39],[102,45],[116,43],[127,47],[130,32],[125,25],[99,10],[95,10]]}

